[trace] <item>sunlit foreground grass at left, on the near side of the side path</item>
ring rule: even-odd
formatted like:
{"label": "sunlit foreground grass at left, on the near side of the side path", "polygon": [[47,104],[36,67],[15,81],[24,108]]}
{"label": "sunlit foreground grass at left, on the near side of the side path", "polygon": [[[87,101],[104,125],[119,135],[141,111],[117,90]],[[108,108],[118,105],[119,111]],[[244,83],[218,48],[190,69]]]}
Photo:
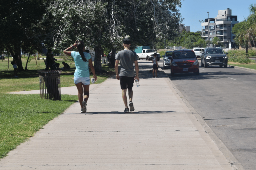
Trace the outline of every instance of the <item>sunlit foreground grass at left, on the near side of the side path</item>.
{"label": "sunlit foreground grass at left, on the near side of the side path", "polygon": [[0,158],[32,137],[50,120],[78,100],[61,95],[61,101],[41,99],[38,94],[0,93]]}

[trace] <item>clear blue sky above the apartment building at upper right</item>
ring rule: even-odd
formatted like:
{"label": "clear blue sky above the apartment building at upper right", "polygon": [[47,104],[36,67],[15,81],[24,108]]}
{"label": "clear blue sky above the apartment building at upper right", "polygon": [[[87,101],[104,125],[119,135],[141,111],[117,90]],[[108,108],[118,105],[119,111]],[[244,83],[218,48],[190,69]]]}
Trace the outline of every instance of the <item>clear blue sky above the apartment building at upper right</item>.
{"label": "clear blue sky above the apartment building at upper right", "polygon": [[208,18],[215,18],[218,15],[218,10],[231,9],[232,15],[237,15],[239,22],[250,15],[250,4],[256,3],[256,0],[181,0],[182,6],[179,9],[182,18],[185,18],[182,23],[185,26],[190,26],[191,32],[201,31],[201,23],[199,20]]}

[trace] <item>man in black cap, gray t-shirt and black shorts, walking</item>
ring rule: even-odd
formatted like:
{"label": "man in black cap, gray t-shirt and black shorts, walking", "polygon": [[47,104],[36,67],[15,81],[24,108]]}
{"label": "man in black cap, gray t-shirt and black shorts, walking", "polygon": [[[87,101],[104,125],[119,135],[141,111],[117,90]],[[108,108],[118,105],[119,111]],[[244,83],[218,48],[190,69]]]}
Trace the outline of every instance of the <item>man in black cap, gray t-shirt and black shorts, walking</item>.
{"label": "man in black cap, gray t-shirt and black shorts, walking", "polygon": [[[129,113],[129,108],[127,105],[127,96],[126,96],[126,89],[128,89],[128,96],[129,96],[129,106],[130,106],[130,112],[134,111],[134,106],[132,103],[132,96],[133,96],[133,83],[134,80],[139,79],[139,66],[138,66],[138,58],[137,54],[130,50],[131,40],[128,38],[125,38],[123,40],[123,46],[124,50],[119,51],[115,57],[115,74],[116,79],[120,80],[120,85],[122,89],[122,97],[125,105],[124,113]],[[120,61],[120,72],[118,71],[118,64]],[[133,63],[135,65],[135,71],[136,75],[134,74],[134,67]]]}

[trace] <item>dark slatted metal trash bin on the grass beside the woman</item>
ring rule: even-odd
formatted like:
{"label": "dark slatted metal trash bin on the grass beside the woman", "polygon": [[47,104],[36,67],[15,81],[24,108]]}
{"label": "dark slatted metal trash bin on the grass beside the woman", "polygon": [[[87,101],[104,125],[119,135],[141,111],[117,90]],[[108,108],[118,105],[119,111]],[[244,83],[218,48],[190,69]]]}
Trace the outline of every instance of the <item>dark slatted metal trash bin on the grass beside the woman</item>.
{"label": "dark slatted metal trash bin on the grass beside the woman", "polygon": [[39,74],[40,97],[61,100],[60,73],[62,70],[41,70]]}

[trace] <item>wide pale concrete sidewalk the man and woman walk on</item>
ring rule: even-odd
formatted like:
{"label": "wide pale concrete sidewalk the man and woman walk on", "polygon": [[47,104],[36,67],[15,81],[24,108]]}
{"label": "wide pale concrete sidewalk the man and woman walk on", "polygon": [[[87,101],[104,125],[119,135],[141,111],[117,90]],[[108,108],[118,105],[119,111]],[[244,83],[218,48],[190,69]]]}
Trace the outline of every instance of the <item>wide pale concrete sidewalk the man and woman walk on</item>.
{"label": "wide pale concrete sidewalk the man and woman walk on", "polygon": [[[74,103],[1,159],[0,169],[244,169],[161,68],[152,78],[152,62],[138,63],[134,112],[124,114],[115,77],[94,84],[88,113]],[[63,91],[77,95],[76,87]]]}

